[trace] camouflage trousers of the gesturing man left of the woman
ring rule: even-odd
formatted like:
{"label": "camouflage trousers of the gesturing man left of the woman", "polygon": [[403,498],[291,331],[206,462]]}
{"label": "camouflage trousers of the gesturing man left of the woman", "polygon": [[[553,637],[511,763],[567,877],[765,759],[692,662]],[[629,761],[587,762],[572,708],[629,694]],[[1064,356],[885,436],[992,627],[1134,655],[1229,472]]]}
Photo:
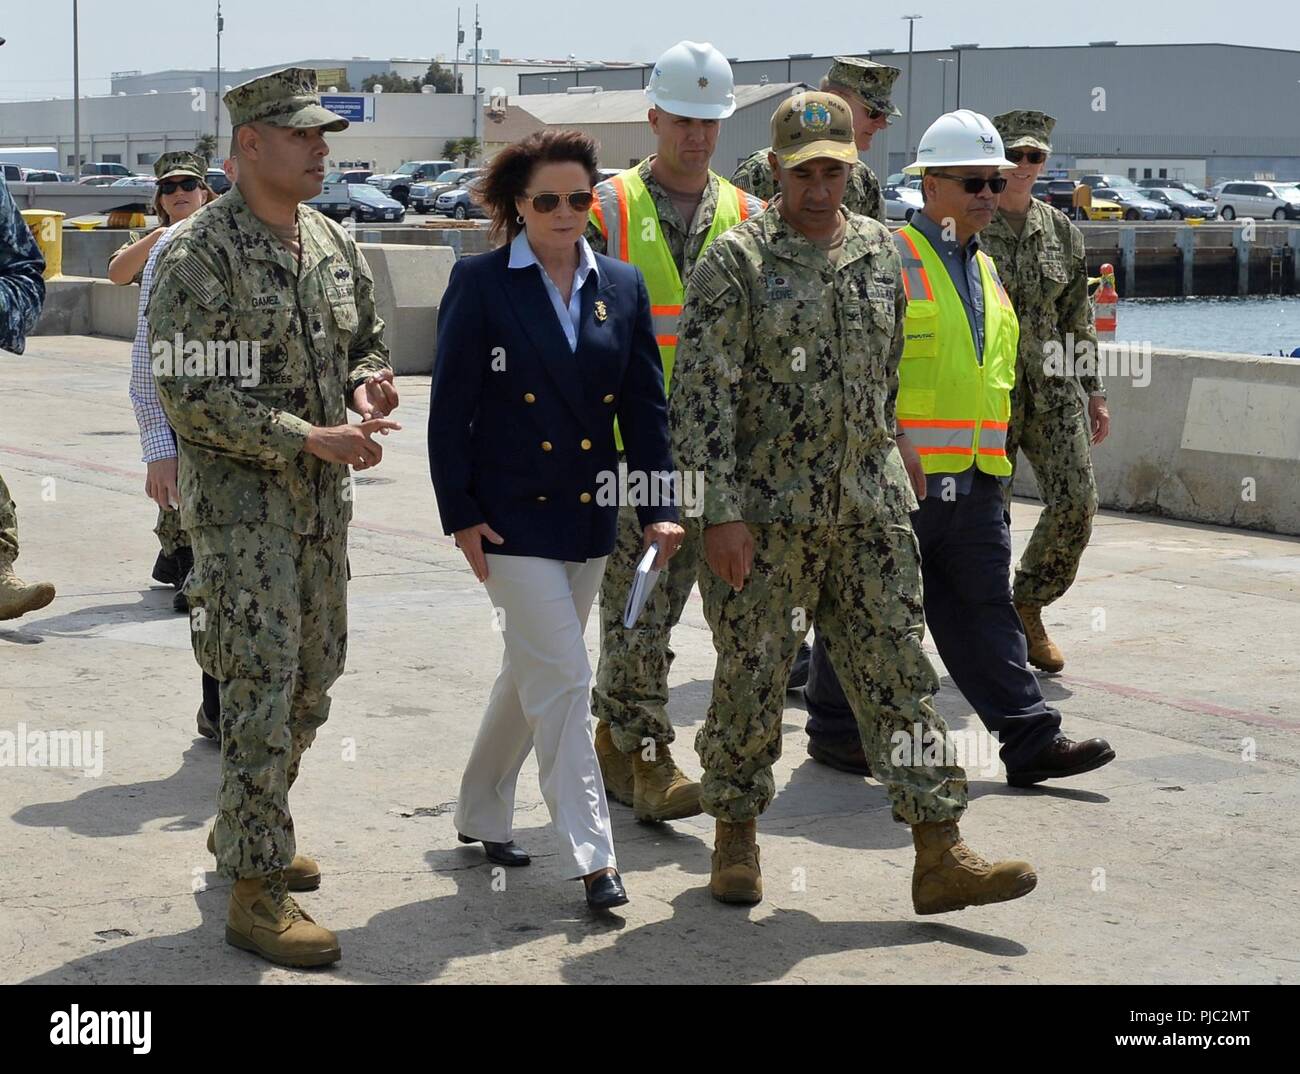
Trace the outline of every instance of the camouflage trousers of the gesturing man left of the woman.
{"label": "camouflage trousers of the gesturing man left of the woman", "polygon": [[194,651],[221,684],[217,870],[265,876],[294,859],[289,788],[343,671],[347,534],[244,523],[190,537]]}

